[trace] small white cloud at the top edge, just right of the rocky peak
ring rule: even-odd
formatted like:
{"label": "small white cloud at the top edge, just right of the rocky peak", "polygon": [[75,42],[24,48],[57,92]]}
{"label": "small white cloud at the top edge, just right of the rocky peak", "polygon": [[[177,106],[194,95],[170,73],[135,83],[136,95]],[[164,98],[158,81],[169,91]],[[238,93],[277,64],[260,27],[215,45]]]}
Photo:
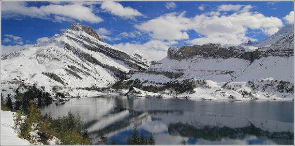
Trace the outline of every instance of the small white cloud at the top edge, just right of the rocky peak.
{"label": "small white cloud at the top edge, just right of the rocky peak", "polygon": [[143,16],[136,9],[131,7],[123,7],[120,3],[115,1],[103,1],[101,9],[105,12],[108,12],[112,15],[117,15],[124,19],[133,19],[136,20],[134,16]]}

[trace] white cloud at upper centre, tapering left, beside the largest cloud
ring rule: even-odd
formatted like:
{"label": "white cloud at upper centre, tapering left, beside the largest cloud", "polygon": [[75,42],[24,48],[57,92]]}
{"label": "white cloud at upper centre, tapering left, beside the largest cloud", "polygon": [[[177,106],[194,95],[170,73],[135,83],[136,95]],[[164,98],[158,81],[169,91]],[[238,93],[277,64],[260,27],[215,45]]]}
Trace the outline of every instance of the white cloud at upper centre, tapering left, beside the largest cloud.
{"label": "white cloud at upper centre, tapering left, beside the largest cloud", "polygon": [[148,20],[148,22],[134,25],[135,28],[148,32],[155,40],[182,40],[188,39],[186,30],[191,25],[191,20],[181,14],[169,13],[158,18]]}

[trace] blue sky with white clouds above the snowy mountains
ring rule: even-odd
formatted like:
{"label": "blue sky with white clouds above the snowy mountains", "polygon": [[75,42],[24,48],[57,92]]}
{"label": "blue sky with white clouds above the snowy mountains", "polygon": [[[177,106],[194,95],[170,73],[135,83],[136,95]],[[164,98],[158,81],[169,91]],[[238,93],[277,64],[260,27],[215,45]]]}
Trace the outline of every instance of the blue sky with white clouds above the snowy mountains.
{"label": "blue sky with white clouds above the snowy mountains", "polygon": [[45,41],[74,22],[123,51],[161,60],[170,46],[261,42],[294,25],[294,1],[1,0],[1,54]]}

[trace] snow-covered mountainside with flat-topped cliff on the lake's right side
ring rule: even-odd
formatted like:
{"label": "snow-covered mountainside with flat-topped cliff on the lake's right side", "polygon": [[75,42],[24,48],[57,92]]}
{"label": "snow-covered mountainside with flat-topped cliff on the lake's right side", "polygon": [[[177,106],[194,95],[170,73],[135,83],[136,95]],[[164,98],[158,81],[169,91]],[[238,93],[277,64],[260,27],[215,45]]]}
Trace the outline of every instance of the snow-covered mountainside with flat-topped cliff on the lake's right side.
{"label": "snow-covered mountainside with flat-topped cliff on the lake's right side", "polygon": [[247,100],[243,91],[254,92],[251,99],[294,99],[294,26],[282,28],[259,44],[170,47],[167,57],[153,61],[147,71],[133,73],[130,79],[148,80],[145,86],[159,87],[204,79],[207,87],[183,94],[196,99],[228,100],[234,96]]}

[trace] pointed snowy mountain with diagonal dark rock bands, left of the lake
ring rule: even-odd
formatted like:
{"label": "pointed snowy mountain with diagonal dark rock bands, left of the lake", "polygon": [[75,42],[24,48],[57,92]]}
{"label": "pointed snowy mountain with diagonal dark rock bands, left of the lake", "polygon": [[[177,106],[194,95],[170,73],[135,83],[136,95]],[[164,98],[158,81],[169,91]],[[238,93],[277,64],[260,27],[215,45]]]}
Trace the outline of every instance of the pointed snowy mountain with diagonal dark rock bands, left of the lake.
{"label": "pointed snowy mountain with diagonal dark rock bands, left of the lake", "polygon": [[74,23],[42,43],[1,58],[1,87],[108,87],[130,70],[145,71],[149,65],[137,54],[104,43],[94,29]]}

